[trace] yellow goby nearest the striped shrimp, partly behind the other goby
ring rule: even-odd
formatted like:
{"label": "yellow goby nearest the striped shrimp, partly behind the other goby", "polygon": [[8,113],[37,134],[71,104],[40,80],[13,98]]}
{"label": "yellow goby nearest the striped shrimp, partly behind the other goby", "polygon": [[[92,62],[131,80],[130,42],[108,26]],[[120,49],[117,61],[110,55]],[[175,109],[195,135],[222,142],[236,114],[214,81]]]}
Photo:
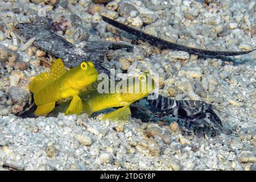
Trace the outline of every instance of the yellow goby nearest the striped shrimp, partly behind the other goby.
{"label": "yellow goby nearest the striped shrimp, partly behind the other goby", "polygon": [[[105,119],[129,119],[131,115],[130,105],[140,100],[143,97],[146,97],[155,89],[155,82],[150,75],[142,74],[139,77],[128,78],[127,80],[119,81],[116,85],[120,85],[121,89],[115,89],[114,93],[99,93],[98,85],[99,81],[94,82],[89,85],[85,92],[82,92],[79,96],[82,100],[82,113],[87,113],[88,115],[100,111],[103,109],[111,107],[121,107],[117,110],[112,111],[104,115],[102,120]],[[126,86],[126,89],[124,89]],[[55,114],[63,112],[67,108],[69,102],[66,102],[58,106],[55,111]],[[77,111],[74,111],[70,114],[76,114]]]}

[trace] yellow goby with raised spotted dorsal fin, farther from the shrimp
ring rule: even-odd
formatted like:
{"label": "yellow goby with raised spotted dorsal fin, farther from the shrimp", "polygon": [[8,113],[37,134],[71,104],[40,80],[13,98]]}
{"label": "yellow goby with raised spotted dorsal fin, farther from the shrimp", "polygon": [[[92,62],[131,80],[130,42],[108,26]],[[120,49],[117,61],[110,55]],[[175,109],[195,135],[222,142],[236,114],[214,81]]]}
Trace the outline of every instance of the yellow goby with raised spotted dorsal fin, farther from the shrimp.
{"label": "yellow goby with raised spotted dorsal fin, farther from the shrimp", "polygon": [[36,76],[29,85],[37,106],[35,115],[48,114],[54,109],[55,102],[68,97],[73,98],[65,114],[80,113],[82,102],[79,92],[96,81],[97,77],[98,72],[90,61],[67,71],[63,61],[56,59],[49,72]]}

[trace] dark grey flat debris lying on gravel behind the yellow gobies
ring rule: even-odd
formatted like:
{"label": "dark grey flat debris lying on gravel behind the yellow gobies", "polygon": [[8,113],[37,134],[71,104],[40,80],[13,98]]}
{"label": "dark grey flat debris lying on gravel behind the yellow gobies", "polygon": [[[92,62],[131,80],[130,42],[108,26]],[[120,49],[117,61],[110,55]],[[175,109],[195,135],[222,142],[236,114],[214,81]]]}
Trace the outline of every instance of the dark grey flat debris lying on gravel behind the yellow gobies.
{"label": "dark grey flat debris lying on gravel behind the yellow gobies", "polygon": [[18,23],[15,27],[26,39],[36,37],[34,46],[49,55],[60,57],[67,67],[75,67],[82,61],[92,61],[100,73],[109,71],[102,67],[108,49],[133,48],[123,43],[87,42],[84,48],[75,47],[55,33],[54,24],[49,19],[38,18],[34,23]]}

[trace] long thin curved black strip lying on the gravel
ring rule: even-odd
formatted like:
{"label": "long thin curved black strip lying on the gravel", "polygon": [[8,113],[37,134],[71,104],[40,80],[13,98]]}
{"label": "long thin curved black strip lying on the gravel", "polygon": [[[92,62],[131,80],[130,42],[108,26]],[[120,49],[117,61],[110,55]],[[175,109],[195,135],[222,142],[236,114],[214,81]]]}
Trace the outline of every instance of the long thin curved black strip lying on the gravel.
{"label": "long thin curved black strip lying on the gravel", "polygon": [[192,53],[195,55],[208,55],[208,56],[237,56],[237,55],[245,55],[247,53],[250,53],[250,52],[256,50],[256,49],[253,49],[251,51],[233,52],[233,51],[211,51],[211,50],[187,47],[187,46],[183,46],[180,44],[168,42],[167,40],[163,40],[163,39],[157,38],[155,36],[152,36],[150,34],[146,34],[145,32],[137,30],[136,28],[126,26],[125,24],[117,22],[116,20],[110,19],[106,16],[103,16],[103,15],[101,15],[101,16],[102,16],[102,20],[104,20],[104,22],[109,23],[112,26],[117,27],[123,31],[126,31],[129,34],[133,34],[133,35],[137,36],[138,39],[148,42],[148,43],[152,44],[153,46],[158,46],[163,49],[174,49],[177,51],[185,51],[185,52]]}

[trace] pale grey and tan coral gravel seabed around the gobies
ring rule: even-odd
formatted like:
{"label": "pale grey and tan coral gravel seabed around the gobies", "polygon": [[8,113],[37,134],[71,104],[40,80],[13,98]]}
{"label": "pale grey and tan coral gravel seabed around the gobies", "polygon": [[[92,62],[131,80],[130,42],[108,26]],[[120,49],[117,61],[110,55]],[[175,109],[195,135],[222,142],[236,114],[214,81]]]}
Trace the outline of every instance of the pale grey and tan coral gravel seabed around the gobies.
{"label": "pale grey and tan coral gravel seabed around the gobies", "polygon": [[[115,68],[119,77],[123,71],[158,73],[161,94],[217,105],[239,118],[219,113],[238,134],[183,136],[176,122],[118,123],[101,121],[102,115],[16,117],[31,102],[32,77],[48,71],[54,59],[33,46],[36,38],[16,34],[14,26],[44,10],[57,34],[77,47],[97,40],[131,43],[133,52],[108,51],[104,66]],[[0,1],[0,170],[255,170],[255,51],[216,59],[160,50],[132,41],[100,16],[185,46],[246,51],[256,48],[255,11],[254,0]]]}

